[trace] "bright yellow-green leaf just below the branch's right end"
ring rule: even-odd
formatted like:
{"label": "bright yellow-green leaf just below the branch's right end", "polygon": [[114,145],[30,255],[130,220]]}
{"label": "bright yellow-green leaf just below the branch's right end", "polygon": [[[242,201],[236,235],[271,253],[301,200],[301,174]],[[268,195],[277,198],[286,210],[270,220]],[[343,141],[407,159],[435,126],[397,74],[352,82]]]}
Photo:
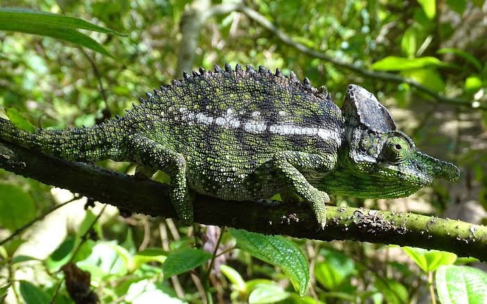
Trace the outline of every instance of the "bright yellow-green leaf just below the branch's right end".
{"label": "bright yellow-green leaf just below the branch's right end", "polygon": [[413,261],[424,271],[435,271],[442,265],[453,264],[456,254],[446,251],[425,250],[422,248],[402,247]]}

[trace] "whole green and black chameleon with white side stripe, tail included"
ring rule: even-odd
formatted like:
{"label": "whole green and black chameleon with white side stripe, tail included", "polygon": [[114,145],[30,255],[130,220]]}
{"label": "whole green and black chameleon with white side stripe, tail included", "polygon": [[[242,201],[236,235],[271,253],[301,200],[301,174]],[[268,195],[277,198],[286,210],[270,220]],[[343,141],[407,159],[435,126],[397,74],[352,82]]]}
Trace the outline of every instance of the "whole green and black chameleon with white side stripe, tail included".
{"label": "whole green and black chameleon with white side stripe, tail included", "polygon": [[308,78],[259,67],[200,68],[91,128],[35,133],[0,119],[0,139],[67,160],[132,161],[169,174],[179,218],[192,222],[188,190],[220,199],[296,194],[326,223],[330,194],[397,198],[454,181],[459,169],[415,148],[374,95],[349,85],[342,108]]}

